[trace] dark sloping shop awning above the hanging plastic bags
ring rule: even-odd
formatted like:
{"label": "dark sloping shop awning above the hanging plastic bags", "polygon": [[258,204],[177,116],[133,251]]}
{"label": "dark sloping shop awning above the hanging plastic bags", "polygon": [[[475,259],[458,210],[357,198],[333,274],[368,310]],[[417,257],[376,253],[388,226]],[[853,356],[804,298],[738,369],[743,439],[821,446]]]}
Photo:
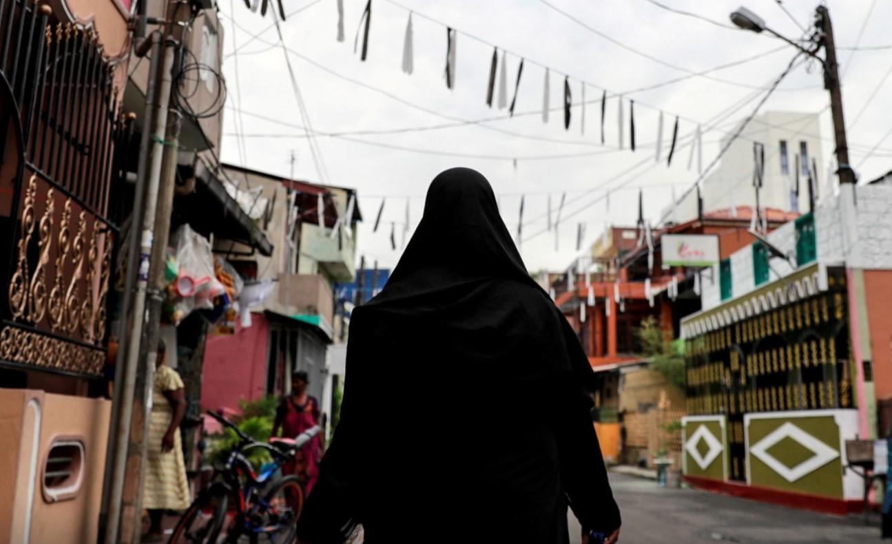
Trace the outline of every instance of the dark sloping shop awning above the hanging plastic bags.
{"label": "dark sloping shop awning above the hanging plastic bags", "polygon": [[244,243],[267,257],[273,254],[267,236],[203,161],[195,161],[194,193],[178,196],[174,202],[174,218],[202,235],[213,233],[218,238]]}

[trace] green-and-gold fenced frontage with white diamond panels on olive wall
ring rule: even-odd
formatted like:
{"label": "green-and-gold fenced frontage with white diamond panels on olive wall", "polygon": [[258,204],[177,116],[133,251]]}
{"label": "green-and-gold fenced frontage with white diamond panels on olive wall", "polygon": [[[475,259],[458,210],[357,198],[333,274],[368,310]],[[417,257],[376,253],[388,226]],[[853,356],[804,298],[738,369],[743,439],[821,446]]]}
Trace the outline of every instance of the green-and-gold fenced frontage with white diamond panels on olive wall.
{"label": "green-and-gold fenced frontage with white diamond panels on olive wall", "polygon": [[[682,321],[682,469],[698,487],[837,514],[862,507],[844,268],[818,263]],[[869,377],[869,376],[868,376]]]}

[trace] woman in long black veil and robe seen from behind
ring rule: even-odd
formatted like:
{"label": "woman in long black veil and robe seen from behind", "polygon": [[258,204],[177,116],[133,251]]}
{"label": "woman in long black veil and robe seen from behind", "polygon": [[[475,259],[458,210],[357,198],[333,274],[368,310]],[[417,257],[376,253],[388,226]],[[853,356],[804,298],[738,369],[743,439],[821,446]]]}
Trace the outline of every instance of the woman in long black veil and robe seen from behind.
{"label": "woman in long black veil and robe seen from behind", "polygon": [[384,290],[353,310],[341,420],[298,536],[343,542],[362,523],[368,544],[558,544],[569,506],[614,542],[590,378],[486,178],[442,172]]}

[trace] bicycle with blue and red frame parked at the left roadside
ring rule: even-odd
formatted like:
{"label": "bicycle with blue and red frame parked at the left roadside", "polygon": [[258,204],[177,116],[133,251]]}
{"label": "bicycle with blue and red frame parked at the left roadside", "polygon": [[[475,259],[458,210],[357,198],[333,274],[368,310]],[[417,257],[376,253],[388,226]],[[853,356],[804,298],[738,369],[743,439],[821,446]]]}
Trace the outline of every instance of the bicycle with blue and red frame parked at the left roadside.
{"label": "bicycle with blue and red frame parked at the left roadside", "polygon": [[[296,475],[273,476],[318,434],[320,427],[312,427],[294,440],[265,443],[253,440],[219,414],[208,415],[232,429],[239,441],[229,452],[226,465],[214,469],[211,485],[198,494],[180,517],[169,542],[235,543],[243,536],[252,544],[261,536],[269,542],[293,542],[303,507],[303,485]],[[244,456],[245,451],[253,448],[266,449],[273,457],[260,474],[254,472]],[[233,515],[229,515],[230,498],[234,499]]]}

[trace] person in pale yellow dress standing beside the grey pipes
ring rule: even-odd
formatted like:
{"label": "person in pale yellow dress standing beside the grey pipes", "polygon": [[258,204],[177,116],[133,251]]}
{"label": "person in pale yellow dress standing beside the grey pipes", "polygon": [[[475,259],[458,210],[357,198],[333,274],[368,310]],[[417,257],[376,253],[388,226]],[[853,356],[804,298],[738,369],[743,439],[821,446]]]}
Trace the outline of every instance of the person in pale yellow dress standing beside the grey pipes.
{"label": "person in pale yellow dress standing beside the grey pipes", "polygon": [[186,460],[179,436],[179,424],[184,416],[183,380],[176,370],[167,366],[167,349],[164,342],[159,341],[145,458],[143,507],[149,511],[150,520],[149,532],[143,539],[145,542],[163,540],[161,520],[166,510],[189,507]]}

